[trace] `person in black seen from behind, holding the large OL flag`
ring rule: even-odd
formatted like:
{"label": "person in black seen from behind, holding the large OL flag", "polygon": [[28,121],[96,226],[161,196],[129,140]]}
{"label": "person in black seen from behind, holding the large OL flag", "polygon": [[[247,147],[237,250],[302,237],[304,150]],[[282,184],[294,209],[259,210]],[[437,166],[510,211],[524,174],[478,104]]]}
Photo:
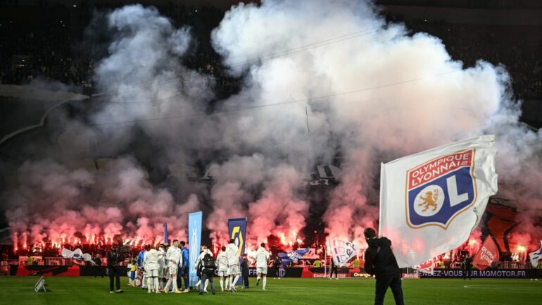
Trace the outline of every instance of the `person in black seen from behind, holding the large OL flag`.
{"label": "person in black seen from behind, holding the large OL flag", "polygon": [[384,304],[384,296],[388,287],[393,292],[395,304],[404,305],[401,288],[401,269],[391,252],[391,241],[386,237],[377,237],[377,232],[367,228],[363,232],[369,247],[365,251],[365,271],[374,275],[377,280],[374,292],[374,305]]}

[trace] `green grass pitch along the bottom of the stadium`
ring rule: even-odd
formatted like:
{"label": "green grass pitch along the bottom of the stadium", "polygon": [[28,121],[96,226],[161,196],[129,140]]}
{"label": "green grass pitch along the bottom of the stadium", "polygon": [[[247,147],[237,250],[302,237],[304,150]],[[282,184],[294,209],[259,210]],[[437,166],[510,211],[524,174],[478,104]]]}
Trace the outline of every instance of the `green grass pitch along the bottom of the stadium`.
{"label": "green grass pitch along the bottom of the stadium", "polygon": [[[374,280],[371,279],[267,279],[267,292],[256,278],[251,288],[238,289],[236,294],[220,292],[218,278],[216,295],[196,292],[186,294],[147,294],[146,290],[126,285],[121,278],[123,294],[109,293],[108,278],[49,277],[47,292],[34,292],[37,277],[1,277],[0,304],[373,304]],[[467,287],[465,287],[467,286]],[[210,292],[210,287],[208,288]],[[403,280],[405,304],[542,304],[542,281],[530,280]],[[395,304],[388,290],[384,304]]]}

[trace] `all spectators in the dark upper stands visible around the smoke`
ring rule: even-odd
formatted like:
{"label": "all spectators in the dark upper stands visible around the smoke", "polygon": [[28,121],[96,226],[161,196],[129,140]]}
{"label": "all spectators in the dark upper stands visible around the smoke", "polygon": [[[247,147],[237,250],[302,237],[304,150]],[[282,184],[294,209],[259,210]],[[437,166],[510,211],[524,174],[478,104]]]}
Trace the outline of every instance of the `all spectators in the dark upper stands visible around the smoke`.
{"label": "all spectators in the dark upper stands visible around the smoke", "polygon": [[[77,11],[39,8],[54,13],[47,14],[49,18],[40,17],[35,23],[28,18],[17,18],[17,14],[12,18],[0,16],[0,83],[23,85],[42,76],[70,85],[91,87],[94,63],[99,58],[92,58],[82,51],[80,41],[92,12],[105,9],[104,6],[106,4],[96,4],[77,8]],[[227,74],[220,56],[209,42],[210,31],[218,26],[225,12],[219,8],[187,8],[172,4],[158,9],[175,26],[190,25],[196,35],[198,50],[183,58],[183,64],[212,75],[214,81],[208,84],[219,98],[239,90],[239,80]],[[24,14],[22,10],[18,8],[19,15]],[[502,64],[512,77],[512,88],[519,99],[542,97],[542,59],[538,56],[542,54],[542,45],[538,26],[450,24],[399,20],[396,16],[389,16],[389,19],[404,21],[412,33],[428,32],[439,37],[453,59],[463,61],[466,66],[473,66],[479,59]]]}

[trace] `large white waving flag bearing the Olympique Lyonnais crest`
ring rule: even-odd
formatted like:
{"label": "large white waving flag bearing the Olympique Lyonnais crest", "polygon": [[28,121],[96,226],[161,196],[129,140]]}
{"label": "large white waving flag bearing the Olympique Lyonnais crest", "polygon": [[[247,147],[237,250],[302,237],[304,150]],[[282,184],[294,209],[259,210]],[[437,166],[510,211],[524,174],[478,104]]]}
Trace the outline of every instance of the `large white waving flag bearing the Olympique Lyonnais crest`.
{"label": "large white waving flag bearing the Olympique Lyonnais crest", "polygon": [[382,163],[379,234],[399,267],[459,247],[497,192],[495,136],[485,135]]}

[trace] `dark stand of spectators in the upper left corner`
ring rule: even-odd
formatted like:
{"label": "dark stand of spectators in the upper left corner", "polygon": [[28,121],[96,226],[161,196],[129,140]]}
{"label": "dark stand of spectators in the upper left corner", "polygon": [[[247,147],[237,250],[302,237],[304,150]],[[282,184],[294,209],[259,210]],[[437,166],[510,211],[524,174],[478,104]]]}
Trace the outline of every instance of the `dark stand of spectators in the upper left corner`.
{"label": "dark stand of spectators in the upper left corner", "polygon": [[78,56],[75,51],[76,30],[70,18],[56,13],[49,22],[33,23],[26,18],[0,19],[0,83],[24,85],[34,77],[87,86],[92,76],[94,61]]}

